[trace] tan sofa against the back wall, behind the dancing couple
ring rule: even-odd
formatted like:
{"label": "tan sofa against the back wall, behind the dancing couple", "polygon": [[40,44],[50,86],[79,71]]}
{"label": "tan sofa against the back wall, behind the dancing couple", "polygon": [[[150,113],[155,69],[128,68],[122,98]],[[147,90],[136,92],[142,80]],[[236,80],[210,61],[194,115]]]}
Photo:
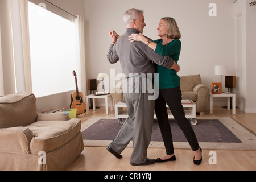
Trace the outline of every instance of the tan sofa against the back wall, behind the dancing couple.
{"label": "tan sofa against the back wall, behind the dancing couple", "polygon": [[[195,102],[196,112],[204,115],[209,105],[210,89],[202,84],[200,75],[189,75],[180,77],[180,89],[183,99],[189,99]],[[114,105],[125,99],[122,93],[121,84],[111,91]]]}

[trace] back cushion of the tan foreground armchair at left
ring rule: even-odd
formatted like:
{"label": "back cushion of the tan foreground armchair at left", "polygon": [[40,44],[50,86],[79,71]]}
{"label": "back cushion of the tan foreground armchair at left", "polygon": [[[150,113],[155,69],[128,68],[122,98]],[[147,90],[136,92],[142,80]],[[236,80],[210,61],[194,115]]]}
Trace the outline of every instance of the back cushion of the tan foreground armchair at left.
{"label": "back cushion of the tan foreground armchair at left", "polygon": [[36,98],[32,93],[0,97],[0,128],[30,125],[37,115]]}

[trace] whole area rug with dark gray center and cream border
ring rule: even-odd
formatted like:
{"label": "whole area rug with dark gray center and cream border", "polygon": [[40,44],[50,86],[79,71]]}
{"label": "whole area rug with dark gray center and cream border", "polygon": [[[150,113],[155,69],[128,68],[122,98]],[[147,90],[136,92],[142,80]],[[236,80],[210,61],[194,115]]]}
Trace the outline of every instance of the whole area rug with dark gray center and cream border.
{"label": "whole area rug with dark gray center and cream border", "polygon": [[[174,147],[191,149],[175,120],[170,120]],[[82,123],[85,146],[108,147],[122,125],[113,117],[93,117]],[[256,137],[232,118],[197,118],[192,126],[200,147],[209,150],[256,150]],[[158,122],[153,125],[150,148],[164,148]],[[133,147],[132,141],[128,147]]]}

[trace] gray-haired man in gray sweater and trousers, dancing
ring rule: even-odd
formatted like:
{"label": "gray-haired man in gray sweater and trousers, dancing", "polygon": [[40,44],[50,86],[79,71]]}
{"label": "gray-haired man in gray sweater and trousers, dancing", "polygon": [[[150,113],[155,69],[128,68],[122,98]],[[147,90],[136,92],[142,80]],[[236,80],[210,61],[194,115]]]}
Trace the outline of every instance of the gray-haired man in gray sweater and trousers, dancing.
{"label": "gray-haired man in gray sweater and trousers, dancing", "polygon": [[[176,71],[179,71],[180,67],[171,57],[162,56],[152,51],[148,47],[150,41],[147,45],[142,42],[130,43],[129,36],[142,34],[143,28],[146,26],[142,10],[130,9],[126,11],[123,20],[127,31],[120,38],[118,37],[118,40],[117,34],[113,30],[110,32],[112,45],[107,57],[111,64],[120,61],[122,72],[126,76],[123,80],[123,87],[129,90],[128,93],[125,93],[129,117],[107,150],[121,159],[121,152],[133,139],[134,149],[133,154],[131,154],[131,165],[149,165],[155,163],[154,159],[147,158],[147,148],[150,144],[154,120],[155,100],[150,100],[151,94],[148,93],[148,90],[146,93],[142,92],[142,87],[145,84],[143,80],[150,78],[148,75],[154,75],[154,63]],[[139,81],[134,81],[136,79]],[[135,92],[136,90],[139,92]]]}

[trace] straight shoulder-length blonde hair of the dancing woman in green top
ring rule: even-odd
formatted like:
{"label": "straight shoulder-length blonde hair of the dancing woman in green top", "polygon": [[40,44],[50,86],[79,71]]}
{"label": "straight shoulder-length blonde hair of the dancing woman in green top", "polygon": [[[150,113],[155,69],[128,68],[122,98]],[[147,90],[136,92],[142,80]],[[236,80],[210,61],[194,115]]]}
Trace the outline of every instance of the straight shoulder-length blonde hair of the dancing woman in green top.
{"label": "straight shoulder-length blonde hair of the dancing woman in green top", "polygon": [[181,34],[177,22],[171,17],[162,18],[166,22],[167,38],[168,39],[180,39]]}

